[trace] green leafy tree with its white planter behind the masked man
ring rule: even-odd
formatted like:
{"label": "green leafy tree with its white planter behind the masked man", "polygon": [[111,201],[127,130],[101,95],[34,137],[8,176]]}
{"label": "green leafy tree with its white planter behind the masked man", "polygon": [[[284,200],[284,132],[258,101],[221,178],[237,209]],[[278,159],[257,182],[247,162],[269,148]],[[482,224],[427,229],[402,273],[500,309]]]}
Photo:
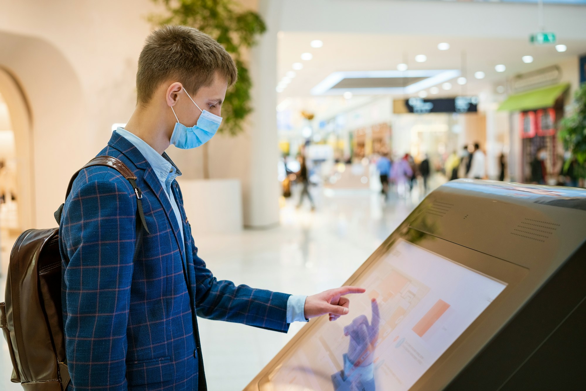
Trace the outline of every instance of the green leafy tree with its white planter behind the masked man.
{"label": "green leafy tree with its white planter behind the masked man", "polygon": [[[163,15],[151,15],[149,19],[152,22],[195,27],[216,39],[233,57],[238,69],[238,81],[226,93],[222,105],[224,120],[218,133],[230,136],[240,134],[246,117],[253,111],[250,97],[252,81],[244,56],[254,45],[255,38],[265,32],[263,19],[257,12],[243,9],[234,0],[152,1],[162,4],[165,9]],[[197,227],[192,229],[195,232],[205,230],[206,233],[240,230],[243,226],[240,181],[210,179],[209,142],[202,146],[202,152],[203,181],[180,179],[185,209],[199,220]],[[206,205],[206,208],[202,210],[197,205]]]}

